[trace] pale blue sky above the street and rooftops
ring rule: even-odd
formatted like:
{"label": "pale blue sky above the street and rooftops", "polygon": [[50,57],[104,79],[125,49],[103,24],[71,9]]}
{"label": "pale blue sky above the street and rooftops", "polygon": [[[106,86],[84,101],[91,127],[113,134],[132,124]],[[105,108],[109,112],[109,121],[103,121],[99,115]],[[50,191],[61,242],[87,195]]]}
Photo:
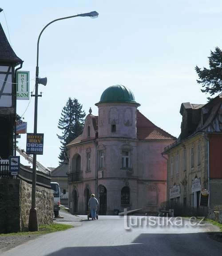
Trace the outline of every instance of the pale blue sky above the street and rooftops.
{"label": "pale blue sky above the street and rooftops", "polygon": [[[139,111],[173,136],[180,134],[183,102],[205,104],[195,66],[208,67],[210,50],[222,48],[220,0],[30,0],[4,1],[0,23],[35,86],[36,46],[50,21],[91,11],[99,17],[76,17],[51,24],[40,39],[37,132],[44,133],[45,167],[59,164],[56,134],[68,97],[88,114],[109,86],[123,84],[141,104]],[[5,17],[7,24],[5,21]],[[33,132],[34,98],[17,100],[17,113]],[[26,110],[27,108],[27,110]],[[25,112],[26,110],[26,112]],[[24,113],[25,112],[25,113]],[[18,139],[26,149],[26,135]]]}

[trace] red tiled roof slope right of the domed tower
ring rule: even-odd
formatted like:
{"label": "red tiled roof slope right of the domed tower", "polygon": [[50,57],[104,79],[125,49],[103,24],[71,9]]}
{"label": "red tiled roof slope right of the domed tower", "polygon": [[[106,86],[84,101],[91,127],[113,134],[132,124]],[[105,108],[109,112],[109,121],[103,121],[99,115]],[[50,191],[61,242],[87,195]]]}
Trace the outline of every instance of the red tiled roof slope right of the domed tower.
{"label": "red tiled roof slope right of the domed tower", "polygon": [[176,140],[176,137],[153,124],[137,110],[137,137],[139,140]]}

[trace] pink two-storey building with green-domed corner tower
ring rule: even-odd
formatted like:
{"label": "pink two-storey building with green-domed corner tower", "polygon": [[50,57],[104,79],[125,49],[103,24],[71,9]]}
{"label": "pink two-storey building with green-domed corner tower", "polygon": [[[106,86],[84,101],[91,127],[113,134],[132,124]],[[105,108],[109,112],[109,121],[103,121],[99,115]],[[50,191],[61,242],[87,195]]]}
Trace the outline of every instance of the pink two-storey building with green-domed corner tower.
{"label": "pink two-storey building with green-domed corner tower", "polygon": [[166,200],[161,152],[175,137],[143,116],[122,85],[107,88],[95,105],[99,116],[90,109],[82,135],[67,145],[71,212],[85,214],[91,193],[100,215],[124,208],[156,212]]}

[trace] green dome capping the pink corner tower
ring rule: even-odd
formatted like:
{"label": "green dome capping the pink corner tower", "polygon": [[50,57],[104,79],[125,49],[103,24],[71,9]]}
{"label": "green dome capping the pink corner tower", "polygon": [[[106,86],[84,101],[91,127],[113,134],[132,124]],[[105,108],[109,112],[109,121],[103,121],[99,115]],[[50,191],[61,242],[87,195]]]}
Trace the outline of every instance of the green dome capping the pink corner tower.
{"label": "green dome capping the pink corner tower", "polygon": [[135,97],[131,92],[131,90],[123,85],[110,86],[102,93],[99,103],[108,103],[108,102],[126,102],[126,103],[135,103],[139,105],[135,101]]}

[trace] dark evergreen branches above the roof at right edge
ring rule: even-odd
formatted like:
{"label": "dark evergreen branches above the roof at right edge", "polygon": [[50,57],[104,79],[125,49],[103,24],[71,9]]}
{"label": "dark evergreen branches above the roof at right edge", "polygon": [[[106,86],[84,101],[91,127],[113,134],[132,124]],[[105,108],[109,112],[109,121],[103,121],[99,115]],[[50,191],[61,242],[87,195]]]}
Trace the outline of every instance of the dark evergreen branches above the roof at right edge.
{"label": "dark evergreen branches above the roof at right edge", "polygon": [[[202,92],[210,93],[210,96],[215,93],[222,91],[222,51],[220,48],[216,47],[215,51],[210,51],[209,66],[210,68],[198,68],[195,70],[198,74],[199,80],[198,84],[202,84]],[[211,98],[207,98],[210,100]]]}

